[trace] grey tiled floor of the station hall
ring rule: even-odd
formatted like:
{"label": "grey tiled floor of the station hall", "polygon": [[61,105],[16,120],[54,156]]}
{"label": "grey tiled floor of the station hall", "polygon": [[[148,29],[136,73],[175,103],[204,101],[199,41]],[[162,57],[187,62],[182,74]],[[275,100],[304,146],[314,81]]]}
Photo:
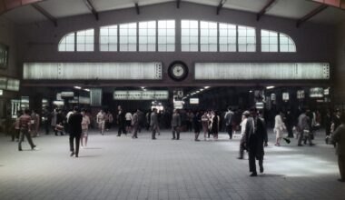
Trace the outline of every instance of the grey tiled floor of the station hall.
{"label": "grey tiled floor of the station hall", "polygon": [[34,138],[38,151],[18,152],[0,137],[0,199],[345,199],[336,155],[319,136],[316,146],[265,149],[265,172],[249,177],[248,160],[236,159],[239,137],[172,141],[164,131],[116,137],[92,133],[80,157],[70,157],[68,136]]}

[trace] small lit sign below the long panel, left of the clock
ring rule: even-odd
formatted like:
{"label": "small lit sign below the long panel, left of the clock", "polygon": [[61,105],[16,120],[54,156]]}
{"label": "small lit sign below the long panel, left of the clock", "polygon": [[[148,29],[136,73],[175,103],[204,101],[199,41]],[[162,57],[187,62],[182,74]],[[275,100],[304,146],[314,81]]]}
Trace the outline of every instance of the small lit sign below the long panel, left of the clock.
{"label": "small lit sign below the long panel, left of the clock", "polygon": [[166,100],[169,92],[165,90],[141,91],[141,90],[118,90],[113,92],[114,100]]}

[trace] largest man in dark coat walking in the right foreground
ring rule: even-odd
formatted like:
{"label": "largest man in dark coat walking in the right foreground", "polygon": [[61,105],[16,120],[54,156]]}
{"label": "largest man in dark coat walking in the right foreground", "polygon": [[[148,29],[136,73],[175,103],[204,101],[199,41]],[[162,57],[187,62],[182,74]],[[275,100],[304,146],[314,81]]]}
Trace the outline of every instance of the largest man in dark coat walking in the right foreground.
{"label": "largest man in dark coat walking in the right foreground", "polygon": [[251,176],[257,176],[255,159],[259,160],[260,173],[263,173],[263,143],[267,138],[267,131],[257,115],[256,108],[251,108],[251,117],[247,120],[244,138],[245,146],[248,149]]}

